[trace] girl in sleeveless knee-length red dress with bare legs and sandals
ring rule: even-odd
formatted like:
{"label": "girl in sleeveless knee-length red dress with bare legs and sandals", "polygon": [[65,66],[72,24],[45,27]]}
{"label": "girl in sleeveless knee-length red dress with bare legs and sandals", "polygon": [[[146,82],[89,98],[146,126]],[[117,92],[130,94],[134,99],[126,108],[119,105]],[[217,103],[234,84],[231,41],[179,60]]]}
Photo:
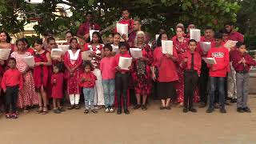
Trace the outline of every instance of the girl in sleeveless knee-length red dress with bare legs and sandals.
{"label": "girl in sleeveless knee-length red dress with bare legs and sandals", "polygon": [[51,66],[50,53],[42,49],[42,39],[34,42],[34,85],[38,93],[39,114],[47,114],[46,87],[48,81],[48,66]]}

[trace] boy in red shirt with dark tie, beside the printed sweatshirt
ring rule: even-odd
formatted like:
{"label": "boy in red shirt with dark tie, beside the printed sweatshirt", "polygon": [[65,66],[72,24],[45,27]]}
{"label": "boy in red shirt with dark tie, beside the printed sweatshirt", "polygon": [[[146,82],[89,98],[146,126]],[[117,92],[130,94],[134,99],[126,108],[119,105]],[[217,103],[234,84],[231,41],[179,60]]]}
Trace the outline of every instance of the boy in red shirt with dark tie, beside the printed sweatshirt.
{"label": "boy in red shirt with dark tie, beside the printed sweatshirt", "polygon": [[181,64],[184,70],[184,109],[186,113],[188,110],[197,112],[193,108],[194,92],[198,86],[198,75],[201,70],[201,56],[198,52],[194,51],[197,48],[197,42],[190,39],[188,44],[189,50],[182,54],[183,62]]}

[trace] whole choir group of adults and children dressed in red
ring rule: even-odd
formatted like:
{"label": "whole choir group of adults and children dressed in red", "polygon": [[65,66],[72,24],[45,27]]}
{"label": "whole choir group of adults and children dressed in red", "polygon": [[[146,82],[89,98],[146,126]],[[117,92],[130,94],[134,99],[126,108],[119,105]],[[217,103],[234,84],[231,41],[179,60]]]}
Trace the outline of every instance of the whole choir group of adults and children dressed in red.
{"label": "whole choir group of adults and children dressed in red", "polygon": [[[95,31],[90,39],[90,30],[101,30],[92,21],[93,14],[86,14],[86,22],[79,27],[77,38],[66,32],[66,42],[70,50],[61,58],[50,54],[57,48],[50,31],[44,39],[37,39],[30,47],[26,38],[10,43],[6,31],[0,31],[0,48],[11,49],[10,58],[0,60],[1,99],[5,106],[6,118],[18,118],[17,108],[27,112],[28,106],[38,105],[38,114],[47,114],[50,103],[53,111],[65,111],[62,98],[67,95],[68,110],[80,109],[80,95],[85,101],[85,114],[97,113],[105,106],[106,113],[130,114],[130,89],[133,89],[136,103],[133,109],[147,110],[150,94],[161,100],[160,110],[170,110],[170,102],[178,102],[183,112],[197,112],[194,102],[211,113],[219,108],[226,113],[228,100],[237,102],[238,112],[250,112],[247,106],[250,66],[256,62],[246,54],[242,34],[234,31],[232,22],[226,23],[224,30],[214,32],[210,26],[204,29],[201,42],[210,42],[209,51],[202,50],[199,42],[190,39],[190,30],[179,23],[176,35],[169,38],[167,31],[159,30],[159,36],[150,44],[149,34],[142,31],[142,22],[131,19],[127,9],[122,10],[120,23],[127,24],[129,34],[111,31],[103,42],[101,32]],[[173,41],[173,54],[162,53],[162,40]],[[228,40],[237,41],[233,48],[226,48]],[[142,50],[142,58],[132,58],[130,48]],[[91,60],[83,60],[82,52],[92,51]],[[28,66],[23,57],[34,56],[34,66]],[[129,70],[119,67],[121,57],[132,58]],[[202,58],[214,58],[216,64],[207,64]],[[52,100],[52,101],[51,101]]]}

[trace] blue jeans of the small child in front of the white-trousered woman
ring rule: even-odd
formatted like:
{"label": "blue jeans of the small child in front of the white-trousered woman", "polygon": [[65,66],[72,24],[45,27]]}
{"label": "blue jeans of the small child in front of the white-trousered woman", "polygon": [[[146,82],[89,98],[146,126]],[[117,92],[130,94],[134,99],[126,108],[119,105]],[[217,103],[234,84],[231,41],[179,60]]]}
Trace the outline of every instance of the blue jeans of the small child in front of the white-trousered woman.
{"label": "blue jeans of the small child in front of the white-trousered woman", "polygon": [[[83,88],[83,96],[85,98],[85,107],[86,110],[94,110],[94,88]],[[90,106],[89,106],[90,101]]]}

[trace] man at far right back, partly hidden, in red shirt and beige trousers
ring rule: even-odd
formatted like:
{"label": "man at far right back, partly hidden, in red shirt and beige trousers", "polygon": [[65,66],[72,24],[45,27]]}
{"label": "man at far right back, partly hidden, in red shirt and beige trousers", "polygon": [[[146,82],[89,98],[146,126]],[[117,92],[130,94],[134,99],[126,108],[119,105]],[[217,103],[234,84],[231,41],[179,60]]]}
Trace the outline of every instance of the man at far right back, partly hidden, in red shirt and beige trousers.
{"label": "man at far right back, partly hidden, in red shirt and beige trousers", "polygon": [[[244,42],[243,35],[234,30],[234,23],[228,22],[225,24],[226,33],[228,34],[227,40]],[[227,76],[227,98],[231,102],[237,102],[237,87],[235,70],[232,66],[234,49],[230,50],[230,73]]]}

